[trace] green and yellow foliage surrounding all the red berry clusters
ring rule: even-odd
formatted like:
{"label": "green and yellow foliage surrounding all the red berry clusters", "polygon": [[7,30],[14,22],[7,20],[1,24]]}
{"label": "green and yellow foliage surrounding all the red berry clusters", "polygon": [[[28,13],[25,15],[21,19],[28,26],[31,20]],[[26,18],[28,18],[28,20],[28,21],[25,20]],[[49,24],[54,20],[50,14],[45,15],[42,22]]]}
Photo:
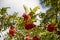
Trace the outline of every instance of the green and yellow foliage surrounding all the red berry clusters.
{"label": "green and yellow foliage surrounding all the red berry clusters", "polygon": [[[6,40],[25,40],[24,38],[27,34],[31,35],[30,40],[32,40],[34,36],[38,36],[40,40],[60,40],[60,35],[56,34],[56,32],[60,30],[60,18],[58,18],[60,16],[60,9],[58,11],[56,10],[60,8],[60,5],[57,5],[60,4],[60,0],[43,0],[42,3],[45,6],[50,6],[50,9],[48,9],[46,13],[36,14],[37,10],[40,8],[39,6],[36,6],[33,9],[29,8],[28,10],[28,8],[23,5],[25,12],[29,13],[31,16],[31,20],[24,20],[24,18],[19,17],[16,12],[14,12],[13,15],[7,14],[7,8],[9,7],[0,9],[0,31],[10,28],[11,25],[16,25],[16,28],[14,29],[16,35],[13,37],[7,33]],[[57,16],[57,14],[59,15]],[[24,24],[26,22],[36,22],[37,16],[41,18],[40,25],[36,25],[36,27],[31,30],[26,30]],[[56,23],[56,21],[58,22]],[[55,25],[57,30],[48,32],[45,28],[48,24]]]}

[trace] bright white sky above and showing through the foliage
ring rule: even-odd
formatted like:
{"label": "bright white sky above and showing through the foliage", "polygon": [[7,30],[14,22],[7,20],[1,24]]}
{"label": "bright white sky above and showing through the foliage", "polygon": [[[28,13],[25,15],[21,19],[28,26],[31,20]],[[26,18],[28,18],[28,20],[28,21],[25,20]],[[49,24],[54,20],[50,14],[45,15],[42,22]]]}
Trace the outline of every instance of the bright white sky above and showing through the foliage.
{"label": "bright white sky above and showing through the foliage", "polygon": [[[38,12],[45,13],[47,10],[47,8],[42,8],[39,0],[0,0],[0,8],[10,7],[10,9],[7,10],[8,14],[18,12],[19,14],[18,16],[21,16],[24,13],[23,5],[26,5],[28,8],[34,8],[35,6],[40,6]],[[2,33],[4,35],[4,33],[6,34],[6,31]],[[1,37],[0,40],[3,40],[3,37]]]}

